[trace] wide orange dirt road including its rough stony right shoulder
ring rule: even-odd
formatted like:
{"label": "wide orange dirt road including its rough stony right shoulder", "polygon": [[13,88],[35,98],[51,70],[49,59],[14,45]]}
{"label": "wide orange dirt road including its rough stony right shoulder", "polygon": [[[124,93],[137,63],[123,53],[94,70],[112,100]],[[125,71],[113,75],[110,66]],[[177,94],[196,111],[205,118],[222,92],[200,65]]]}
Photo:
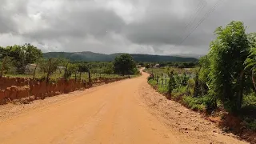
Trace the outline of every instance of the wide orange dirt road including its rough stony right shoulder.
{"label": "wide orange dirt road including its rough stony right shoulder", "polygon": [[[245,143],[222,134],[214,124],[177,103],[164,110],[168,102],[148,86],[147,75],[61,99],[2,106],[0,143]],[[181,111],[193,118],[177,114],[177,119],[174,115]],[[182,129],[182,122],[192,126],[195,121],[198,130]]]}

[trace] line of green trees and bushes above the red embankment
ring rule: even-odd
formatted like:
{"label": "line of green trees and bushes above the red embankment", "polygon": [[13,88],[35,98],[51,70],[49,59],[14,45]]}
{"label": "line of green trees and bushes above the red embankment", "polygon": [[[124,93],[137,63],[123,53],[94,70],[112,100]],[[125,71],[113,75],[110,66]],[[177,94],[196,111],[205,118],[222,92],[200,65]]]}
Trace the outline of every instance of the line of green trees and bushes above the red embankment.
{"label": "line of green trees and bushes above the red embankment", "polygon": [[31,44],[0,47],[0,76],[26,74],[30,64],[35,66],[32,71],[34,75],[39,70],[45,77],[58,72],[63,78],[89,71],[98,74],[122,75],[139,73],[136,62],[130,54],[118,55],[113,62],[73,62],[67,58],[42,58],[42,50]]}

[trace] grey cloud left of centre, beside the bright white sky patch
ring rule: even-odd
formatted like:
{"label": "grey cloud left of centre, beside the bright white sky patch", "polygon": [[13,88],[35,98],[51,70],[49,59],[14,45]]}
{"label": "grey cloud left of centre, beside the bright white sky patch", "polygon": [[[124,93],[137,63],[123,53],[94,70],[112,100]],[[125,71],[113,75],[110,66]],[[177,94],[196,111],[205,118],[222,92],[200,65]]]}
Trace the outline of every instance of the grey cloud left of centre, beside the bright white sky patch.
{"label": "grey cloud left of centre, beside the bright white sky patch", "polygon": [[60,37],[83,38],[87,34],[103,37],[106,31],[120,32],[124,25],[122,19],[109,10],[63,14],[65,15],[62,18],[49,18],[49,15],[42,16],[43,19],[51,19],[49,21],[50,27],[44,30],[35,30],[24,35],[43,39]]}

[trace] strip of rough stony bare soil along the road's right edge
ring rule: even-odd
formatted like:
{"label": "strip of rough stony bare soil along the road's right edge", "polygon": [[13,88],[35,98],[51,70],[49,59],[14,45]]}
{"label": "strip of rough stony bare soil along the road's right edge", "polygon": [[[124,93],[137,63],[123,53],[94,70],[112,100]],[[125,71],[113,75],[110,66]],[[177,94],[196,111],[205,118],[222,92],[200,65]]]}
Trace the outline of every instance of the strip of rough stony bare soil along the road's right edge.
{"label": "strip of rough stony bare soil along the road's right edge", "polygon": [[158,94],[148,84],[142,86],[140,93],[151,114],[158,117],[169,129],[177,131],[177,134],[185,134],[186,138],[193,138],[196,143],[246,143],[239,141],[234,134],[222,131],[202,114]]}

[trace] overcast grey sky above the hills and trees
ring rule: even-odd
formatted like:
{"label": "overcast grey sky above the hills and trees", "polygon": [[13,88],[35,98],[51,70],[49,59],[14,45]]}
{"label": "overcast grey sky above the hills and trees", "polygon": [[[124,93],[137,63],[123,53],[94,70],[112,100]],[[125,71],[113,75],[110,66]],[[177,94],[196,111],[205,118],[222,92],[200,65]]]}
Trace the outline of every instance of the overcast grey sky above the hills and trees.
{"label": "overcast grey sky above the hills and trees", "polygon": [[231,21],[256,32],[255,0],[1,0],[0,46],[43,52],[206,54]]}

